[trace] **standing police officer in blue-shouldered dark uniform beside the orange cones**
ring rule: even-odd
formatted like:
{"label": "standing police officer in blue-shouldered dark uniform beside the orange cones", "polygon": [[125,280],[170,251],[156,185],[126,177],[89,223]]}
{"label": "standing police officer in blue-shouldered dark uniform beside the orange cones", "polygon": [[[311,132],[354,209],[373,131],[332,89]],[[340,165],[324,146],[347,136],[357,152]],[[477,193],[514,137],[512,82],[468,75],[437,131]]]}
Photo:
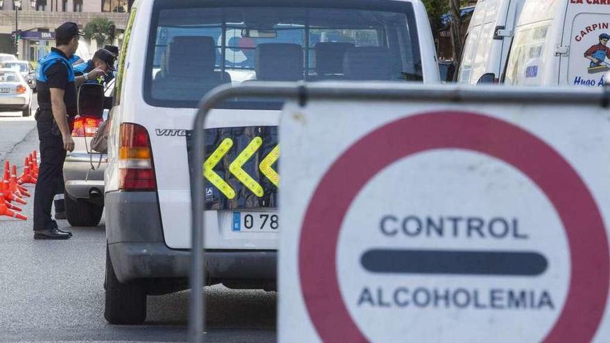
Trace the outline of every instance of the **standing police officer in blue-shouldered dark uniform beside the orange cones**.
{"label": "standing police officer in blue-shouldered dark uniform beside the orange cones", "polygon": [[[67,22],[55,29],[51,53],[38,62],[36,80],[38,105],[36,122],[40,140],[40,171],[34,195],[34,239],[68,239],[72,234],[58,229],[51,218],[53,196],[62,177],[66,151],[74,150],[71,118],[77,114],[76,87],[85,76],[75,78],[69,59],[82,36],[78,25]],[[92,70],[87,77],[98,78],[104,72]]]}

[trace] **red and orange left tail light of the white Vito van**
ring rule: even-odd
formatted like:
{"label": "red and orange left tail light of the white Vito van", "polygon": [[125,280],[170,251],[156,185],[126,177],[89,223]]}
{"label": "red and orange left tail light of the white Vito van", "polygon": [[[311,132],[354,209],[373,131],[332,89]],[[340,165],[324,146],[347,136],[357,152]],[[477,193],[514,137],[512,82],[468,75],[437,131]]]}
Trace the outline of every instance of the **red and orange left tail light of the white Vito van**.
{"label": "red and orange left tail light of the white Vito van", "polygon": [[155,165],[150,137],[137,124],[121,124],[119,137],[119,189],[123,191],[156,191]]}

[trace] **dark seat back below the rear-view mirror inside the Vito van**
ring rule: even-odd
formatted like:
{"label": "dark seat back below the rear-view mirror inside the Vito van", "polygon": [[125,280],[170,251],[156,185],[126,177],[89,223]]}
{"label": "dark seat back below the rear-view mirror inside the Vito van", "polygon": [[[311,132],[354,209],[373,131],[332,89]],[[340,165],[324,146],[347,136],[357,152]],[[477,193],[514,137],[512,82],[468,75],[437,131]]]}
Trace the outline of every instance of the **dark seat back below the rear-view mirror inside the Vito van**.
{"label": "dark seat back below the rear-view mirror inside the Vito van", "polygon": [[303,48],[299,44],[259,44],[256,46],[256,80],[302,80],[303,60]]}

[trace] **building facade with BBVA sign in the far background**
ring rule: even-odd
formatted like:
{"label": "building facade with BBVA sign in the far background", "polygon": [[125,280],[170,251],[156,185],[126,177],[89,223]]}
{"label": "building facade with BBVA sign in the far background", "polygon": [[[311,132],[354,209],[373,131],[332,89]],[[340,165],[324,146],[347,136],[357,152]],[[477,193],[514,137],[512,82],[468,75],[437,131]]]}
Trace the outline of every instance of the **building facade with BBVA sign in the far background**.
{"label": "building facade with BBVA sign in the far background", "polygon": [[[34,5],[34,6],[32,6]],[[55,46],[55,28],[74,21],[85,28],[95,17],[107,17],[116,26],[116,45],[127,24],[128,0],[22,0],[15,10],[13,0],[4,0],[0,8],[0,53],[15,53],[21,60],[37,61]],[[15,39],[15,30],[21,32]],[[106,42],[108,44],[110,42]],[[77,52],[88,59],[98,49],[95,41],[81,39]]]}

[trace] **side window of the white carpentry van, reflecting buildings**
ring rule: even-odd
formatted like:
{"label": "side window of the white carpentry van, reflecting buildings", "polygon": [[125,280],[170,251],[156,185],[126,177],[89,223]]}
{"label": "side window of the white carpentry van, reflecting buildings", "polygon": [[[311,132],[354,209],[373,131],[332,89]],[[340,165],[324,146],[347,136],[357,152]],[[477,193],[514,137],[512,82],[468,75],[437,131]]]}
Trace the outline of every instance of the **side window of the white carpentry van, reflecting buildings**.
{"label": "side window of the white carpentry van, reflecting buildings", "polygon": [[543,26],[525,28],[517,31],[510,53],[505,84],[541,85],[545,67],[544,54],[546,37],[550,23]]}

